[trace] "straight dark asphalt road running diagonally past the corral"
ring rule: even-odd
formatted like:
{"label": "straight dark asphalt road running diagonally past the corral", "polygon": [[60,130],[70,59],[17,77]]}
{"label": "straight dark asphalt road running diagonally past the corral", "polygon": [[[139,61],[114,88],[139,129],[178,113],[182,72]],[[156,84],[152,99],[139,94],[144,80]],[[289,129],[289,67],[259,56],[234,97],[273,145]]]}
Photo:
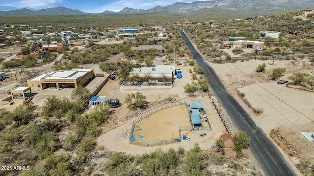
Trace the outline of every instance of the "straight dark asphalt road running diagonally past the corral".
{"label": "straight dark asphalt road running diagonally past the corral", "polygon": [[215,71],[204,61],[200,53],[188,40],[182,30],[179,30],[185,44],[193,54],[193,58],[199,66],[204,68],[204,74],[214,94],[221,100],[233,123],[238,130],[246,132],[251,137],[250,149],[260,164],[265,176],[295,176],[288,162],[270,141],[266,134],[256,126],[249,114],[238,104],[233,96],[224,87]]}

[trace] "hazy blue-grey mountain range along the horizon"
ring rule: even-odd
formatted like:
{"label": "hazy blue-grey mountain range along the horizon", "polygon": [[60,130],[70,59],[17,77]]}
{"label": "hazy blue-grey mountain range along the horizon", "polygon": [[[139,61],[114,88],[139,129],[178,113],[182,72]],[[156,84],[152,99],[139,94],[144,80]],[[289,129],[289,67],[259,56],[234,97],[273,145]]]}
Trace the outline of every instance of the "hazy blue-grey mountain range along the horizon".
{"label": "hazy blue-grey mountain range along the horizon", "polygon": [[[255,12],[274,13],[281,11],[296,11],[314,8],[314,0],[207,0],[194,1],[190,3],[177,2],[166,6],[156,6],[151,9],[134,9],[125,7],[119,12],[105,10],[103,14],[175,14],[175,13],[197,13],[217,6],[226,12]],[[15,7],[0,6],[0,15],[68,15],[68,14],[89,14],[79,10],[66,7],[55,7],[41,10],[31,10],[27,8],[14,9]]]}

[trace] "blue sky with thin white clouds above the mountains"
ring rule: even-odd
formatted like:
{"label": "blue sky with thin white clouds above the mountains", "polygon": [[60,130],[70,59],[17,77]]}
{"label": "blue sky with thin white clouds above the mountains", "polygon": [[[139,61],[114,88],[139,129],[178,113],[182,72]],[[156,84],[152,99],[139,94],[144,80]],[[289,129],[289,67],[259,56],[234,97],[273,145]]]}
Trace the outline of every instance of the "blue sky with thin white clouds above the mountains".
{"label": "blue sky with thin white clouds above the mountains", "polygon": [[176,2],[192,1],[201,0],[0,0],[0,6],[31,7],[37,10],[63,6],[82,12],[102,13],[105,10],[119,12],[125,7],[146,10],[157,5],[166,6]]}

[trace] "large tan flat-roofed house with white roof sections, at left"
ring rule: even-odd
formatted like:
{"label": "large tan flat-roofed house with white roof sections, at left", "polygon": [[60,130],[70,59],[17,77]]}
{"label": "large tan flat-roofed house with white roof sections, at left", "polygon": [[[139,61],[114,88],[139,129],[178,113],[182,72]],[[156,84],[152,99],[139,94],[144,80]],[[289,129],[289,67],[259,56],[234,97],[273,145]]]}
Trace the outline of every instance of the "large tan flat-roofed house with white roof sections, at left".
{"label": "large tan flat-roofed house with white roof sections, at left", "polygon": [[27,86],[31,90],[43,90],[45,88],[78,88],[85,85],[94,77],[93,69],[73,68],[71,70],[58,70],[36,76],[27,80]]}

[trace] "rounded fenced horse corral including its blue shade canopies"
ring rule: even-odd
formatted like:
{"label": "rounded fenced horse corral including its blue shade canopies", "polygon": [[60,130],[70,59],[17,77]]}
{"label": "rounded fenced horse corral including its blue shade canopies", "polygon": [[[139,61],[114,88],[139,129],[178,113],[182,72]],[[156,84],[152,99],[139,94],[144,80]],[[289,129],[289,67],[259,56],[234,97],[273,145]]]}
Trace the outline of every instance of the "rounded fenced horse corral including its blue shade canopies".
{"label": "rounded fenced horse corral including its blue shade canopies", "polygon": [[180,142],[182,137],[185,140],[188,133],[192,131],[211,130],[204,108],[201,113],[198,112],[200,126],[195,128],[193,122],[195,113],[193,115],[190,113],[191,106],[195,104],[202,106],[201,102],[186,103],[185,100],[181,100],[140,115],[133,121],[130,143],[146,147],[163,145]]}

